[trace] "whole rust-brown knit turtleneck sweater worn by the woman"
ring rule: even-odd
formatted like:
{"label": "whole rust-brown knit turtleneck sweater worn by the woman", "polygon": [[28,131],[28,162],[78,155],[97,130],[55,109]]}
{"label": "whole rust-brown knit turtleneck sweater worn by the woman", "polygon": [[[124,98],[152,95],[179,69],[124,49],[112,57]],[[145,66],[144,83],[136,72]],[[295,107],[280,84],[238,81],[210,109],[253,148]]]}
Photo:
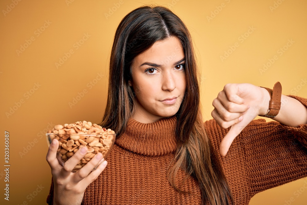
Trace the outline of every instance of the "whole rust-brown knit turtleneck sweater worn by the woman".
{"label": "whole rust-brown knit turtleneck sweater worn by the woman", "polygon": [[[307,106],[307,99],[294,98]],[[187,195],[174,190],[166,178],[176,149],[175,126],[175,116],[150,124],[129,119],[126,132],[107,158],[107,167],[87,187],[82,204],[200,204],[194,179],[189,178],[182,188],[196,195]],[[219,152],[229,129],[220,128],[215,120],[204,126]],[[220,160],[235,204],[247,205],[260,191],[307,176],[307,124],[293,128],[253,120]],[[180,172],[178,180],[184,176]],[[47,203],[51,204],[52,198],[53,184]]]}

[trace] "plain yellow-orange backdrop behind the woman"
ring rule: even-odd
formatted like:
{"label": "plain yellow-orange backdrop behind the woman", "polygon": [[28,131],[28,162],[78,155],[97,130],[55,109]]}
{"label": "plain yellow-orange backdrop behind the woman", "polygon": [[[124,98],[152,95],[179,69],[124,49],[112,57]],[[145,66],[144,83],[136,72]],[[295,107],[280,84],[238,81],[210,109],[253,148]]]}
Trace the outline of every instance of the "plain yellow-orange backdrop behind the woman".
{"label": "plain yellow-orange backdrop behind the woman", "polygon": [[[307,77],[307,2],[304,0],[124,0],[122,4],[119,0],[16,2],[3,0],[0,3],[3,132],[0,153],[4,158],[6,130],[10,132],[11,164],[9,202],[3,199],[5,185],[3,169],[0,169],[1,204],[22,204],[24,201],[45,204],[51,173],[45,160],[46,139],[40,132],[46,132],[49,124],[78,120],[100,122],[106,105],[107,70],[116,27],[128,12],[144,4],[169,7],[191,31],[202,75],[204,120],[212,118],[212,100],[226,83],[245,82],[272,88],[280,81],[283,94],[307,97],[304,81]],[[113,13],[110,12],[112,8]],[[111,15],[106,17],[109,12]],[[210,15],[214,18],[208,20]],[[48,25],[45,21],[51,23]],[[245,34],[249,27],[254,30]],[[38,29],[44,31],[38,33]],[[242,42],[239,37],[244,34],[248,37]],[[86,41],[82,42],[83,37]],[[35,40],[27,43],[31,38]],[[291,39],[294,43],[280,56],[278,49]],[[83,43],[78,49],[77,41]],[[222,61],[220,56],[235,43],[239,47]],[[27,48],[22,53],[17,53],[24,44],[29,45],[25,45]],[[73,54],[57,68],[55,63],[59,63],[70,49]],[[278,59],[261,73],[259,69],[263,69],[263,64],[274,55]],[[69,102],[84,89],[83,97],[78,97],[80,100],[70,106]],[[13,107],[16,110],[7,116],[6,112]],[[31,144],[34,146],[21,156]],[[4,159],[0,166],[3,164]],[[283,205],[293,197],[295,200],[291,204],[305,205],[305,188],[299,197],[294,195],[304,183],[307,178],[264,191],[255,195],[250,204]],[[38,185],[44,188],[33,198],[29,194],[35,192]]]}

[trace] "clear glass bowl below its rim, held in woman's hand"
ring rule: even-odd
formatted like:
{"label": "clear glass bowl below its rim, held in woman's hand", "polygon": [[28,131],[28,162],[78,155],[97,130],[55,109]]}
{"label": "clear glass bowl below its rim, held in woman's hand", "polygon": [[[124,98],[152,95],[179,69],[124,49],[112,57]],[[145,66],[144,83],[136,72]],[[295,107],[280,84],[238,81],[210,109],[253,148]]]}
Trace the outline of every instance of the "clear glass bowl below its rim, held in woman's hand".
{"label": "clear glass bowl below its rim, held in woman's hand", "polygon": [[[59,141],[59,149],[57,150],[56,158],[62,166],[79,148],[87,146],[87,154],[79,161],[76,167],[72,170],[73,172],[81,169],[98,152],[102,153],[103,158],[106,159],[114,145],[115,136],[116,134],[46,134],[48,147],[53,139]],[[92,171],[97,167],[98,166],[96,166]]]}

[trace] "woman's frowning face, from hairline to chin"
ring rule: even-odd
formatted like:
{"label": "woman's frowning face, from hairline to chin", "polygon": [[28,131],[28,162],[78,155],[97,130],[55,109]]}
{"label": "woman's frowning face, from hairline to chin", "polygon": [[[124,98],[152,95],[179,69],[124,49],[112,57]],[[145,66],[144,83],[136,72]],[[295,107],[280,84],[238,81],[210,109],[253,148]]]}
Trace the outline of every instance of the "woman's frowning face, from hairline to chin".
{"label": "woman's frowning face, from hairline to chin", "polygon": [[177,37],[157,41],[131,66],[136,104],[132,118],[152,123],[177,113],[185,95],[185,54]]}

